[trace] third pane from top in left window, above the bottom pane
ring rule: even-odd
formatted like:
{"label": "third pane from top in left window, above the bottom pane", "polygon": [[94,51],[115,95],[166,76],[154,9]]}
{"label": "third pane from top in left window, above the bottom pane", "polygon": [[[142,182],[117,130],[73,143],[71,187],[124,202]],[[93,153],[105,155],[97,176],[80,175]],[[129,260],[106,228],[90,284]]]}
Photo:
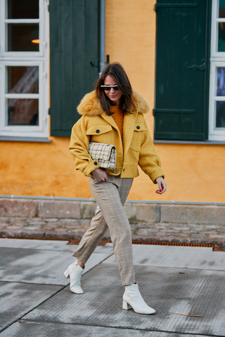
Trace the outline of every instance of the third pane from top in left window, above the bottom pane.
{"label": "third pane from top in left window, above the bottom pane", "polygon": [[7,67],[7,93],[39,93],[38,67]]}

